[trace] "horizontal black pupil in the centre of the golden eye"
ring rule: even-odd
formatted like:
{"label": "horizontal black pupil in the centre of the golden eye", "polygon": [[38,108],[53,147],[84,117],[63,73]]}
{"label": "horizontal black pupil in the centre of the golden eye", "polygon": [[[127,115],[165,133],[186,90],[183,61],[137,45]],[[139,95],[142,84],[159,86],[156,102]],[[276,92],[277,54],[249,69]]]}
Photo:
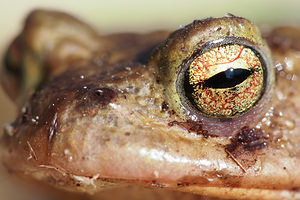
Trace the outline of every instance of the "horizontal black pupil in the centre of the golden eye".
{"label": "horizontal black pupil in the centre of the golden eye", "polygon": [[251,71],[247,69],[227,69],[226,71],[220,72],[209,79],[205,80],[203,87],[208,88],[232,88],[251,75]]}

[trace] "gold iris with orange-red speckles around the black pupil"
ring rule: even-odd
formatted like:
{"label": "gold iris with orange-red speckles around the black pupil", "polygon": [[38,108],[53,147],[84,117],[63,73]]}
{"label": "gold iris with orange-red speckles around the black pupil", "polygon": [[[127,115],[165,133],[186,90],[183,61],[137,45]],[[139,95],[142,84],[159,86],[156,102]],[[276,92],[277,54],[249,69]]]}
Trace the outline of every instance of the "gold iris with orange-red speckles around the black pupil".
{"label": "gold iris with orange-red speckles around the black pupil", "polygon": [[[228,69],[244,69],[251,74],[230,88],[205,87],[205,81]],[[264,68],[250,48],[227,44],[199,55],[188,69],[192,98],[203,113],[215,117],[231,118],[255,105],[263,92]]]}

